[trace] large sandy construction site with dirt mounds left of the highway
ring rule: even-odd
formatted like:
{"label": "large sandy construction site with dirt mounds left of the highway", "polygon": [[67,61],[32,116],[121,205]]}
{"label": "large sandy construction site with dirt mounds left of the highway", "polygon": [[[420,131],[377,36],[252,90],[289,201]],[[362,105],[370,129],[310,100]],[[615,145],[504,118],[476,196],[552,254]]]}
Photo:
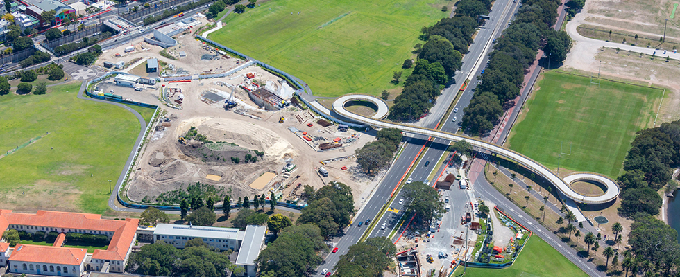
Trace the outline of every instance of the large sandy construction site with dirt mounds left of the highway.
{"label": "large sandy construction site with dirt mounds left of the highway", "polygon": [[[304,206],[304,185],[340,181],[352,188],[355,206],[363,204],[384,175],[367,177],[354,157],[375,139],[374,130],[357,132],[323,120],[294,104],[294,89],[277,75],[190,35],[177,40],[165,51],[139,40],[135,50],[114,48],[98,61],[126,66],[105,69],[124,74],[95,83],[96,93],[162,109],[124,188],[130,200],[160,204],[162,193],[200,182],[232,199],[273,192],[279,201]],[[142,69],[150,59],[158,60],[158,78],[144,84],[151,74]]]}

